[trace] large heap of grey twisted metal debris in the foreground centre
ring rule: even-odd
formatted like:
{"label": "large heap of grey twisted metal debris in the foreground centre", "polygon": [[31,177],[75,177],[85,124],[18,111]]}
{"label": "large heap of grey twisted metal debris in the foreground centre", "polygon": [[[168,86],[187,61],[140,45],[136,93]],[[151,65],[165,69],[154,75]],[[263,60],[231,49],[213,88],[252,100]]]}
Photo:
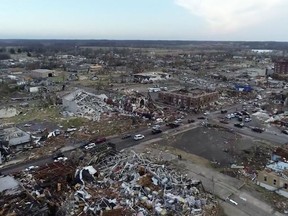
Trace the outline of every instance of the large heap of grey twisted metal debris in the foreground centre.
{"label": "large heap of grey twisted metal debris in the foreground centre", "polygon": [[75,203],[96,215],[196,215],[212,201],[200,181],[136,153],[77,170],[77,179]]}

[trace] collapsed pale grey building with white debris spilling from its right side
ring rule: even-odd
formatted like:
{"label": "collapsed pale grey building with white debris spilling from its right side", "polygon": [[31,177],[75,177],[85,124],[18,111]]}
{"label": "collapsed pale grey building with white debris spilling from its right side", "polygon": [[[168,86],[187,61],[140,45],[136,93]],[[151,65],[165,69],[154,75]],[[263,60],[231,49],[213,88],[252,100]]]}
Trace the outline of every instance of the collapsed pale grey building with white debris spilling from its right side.
{"label": "collapsed pale grey building with white debris spilling from its right side", "polygon": [[76,116],[99,121],[102,113],[112,110],[106,103],[107,99],[108,97],[104,94],[96,95],[77,89],[64,96],[62,104],[65,111],[69,111]]}

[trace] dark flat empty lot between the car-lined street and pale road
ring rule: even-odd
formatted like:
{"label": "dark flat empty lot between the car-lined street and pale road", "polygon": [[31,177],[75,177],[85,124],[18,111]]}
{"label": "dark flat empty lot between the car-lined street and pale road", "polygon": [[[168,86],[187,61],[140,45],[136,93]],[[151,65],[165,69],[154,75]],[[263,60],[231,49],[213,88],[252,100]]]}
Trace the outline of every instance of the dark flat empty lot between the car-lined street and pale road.
{"label": "dark flat empty lot between the car-lined street and pale road", "polygon": [[243,150],[253,147],[255,142],[223,129],[198,127],[159,144],[198,155],[221,166],[229,166],[237,161],[237,156]]}

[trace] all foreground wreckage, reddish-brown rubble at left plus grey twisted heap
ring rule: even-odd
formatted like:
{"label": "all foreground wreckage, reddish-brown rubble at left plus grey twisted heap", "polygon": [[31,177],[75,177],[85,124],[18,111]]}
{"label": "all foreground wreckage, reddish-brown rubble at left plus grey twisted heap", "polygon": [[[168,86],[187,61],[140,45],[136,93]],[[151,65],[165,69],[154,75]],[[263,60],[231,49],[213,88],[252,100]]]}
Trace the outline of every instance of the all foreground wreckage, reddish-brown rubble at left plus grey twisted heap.
{"label": "all foreground wreckage, reddish-brown rubble at left plus grey twisted heap", "polygon": [[163,161],[134,152],[95,157],[78,168],[68,160],[17,174],[24,191],[1,197],[2,215],[200,215],[217,206],[200,181]]}

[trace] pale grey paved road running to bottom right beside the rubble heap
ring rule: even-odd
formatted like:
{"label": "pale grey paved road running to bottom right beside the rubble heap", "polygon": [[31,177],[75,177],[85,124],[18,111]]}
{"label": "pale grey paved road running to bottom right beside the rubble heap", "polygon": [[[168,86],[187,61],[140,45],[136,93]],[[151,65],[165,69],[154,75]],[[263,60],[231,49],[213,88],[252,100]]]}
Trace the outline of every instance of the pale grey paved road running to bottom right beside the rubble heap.
{"label": "pale grey paved road running to bottom right beside the rubble heap", "polygon": [[[229,215],[270,216],[282,215],[274,211],[270,205],[247,192],[241,191],[244,183],[236,178],[219,173],[216,170],[199,166],[197,164],[178,161],[179,166],[185,167],[185,172],[192,178],[199,179],[205,190],[215,194],[227,204],[230,209]],[[235,203],[229,201],[233,200]],[[224,205],[225,205],[224,204]],[[228,212],[227,212],[228,213]]]}

